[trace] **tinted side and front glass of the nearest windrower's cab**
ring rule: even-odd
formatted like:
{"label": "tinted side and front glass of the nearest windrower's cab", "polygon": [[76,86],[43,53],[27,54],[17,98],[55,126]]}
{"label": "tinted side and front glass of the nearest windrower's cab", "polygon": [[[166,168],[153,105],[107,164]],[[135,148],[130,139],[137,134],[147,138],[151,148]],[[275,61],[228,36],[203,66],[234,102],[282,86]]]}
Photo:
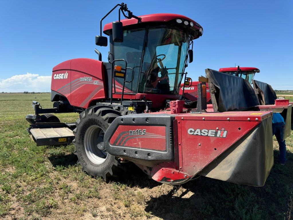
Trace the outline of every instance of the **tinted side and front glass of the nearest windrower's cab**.
{"label": "tinted side and front glass of the nearest windrower's cab", "polygon": [[[111,43],[114,59],[125,59],[134,70],[134,79],[125,88],[133,93],[178,94],[190,41],[187,32],[164,25],[123,30],[123,35],[123,42]],[[130,70],[126,76],[130,81]]]}

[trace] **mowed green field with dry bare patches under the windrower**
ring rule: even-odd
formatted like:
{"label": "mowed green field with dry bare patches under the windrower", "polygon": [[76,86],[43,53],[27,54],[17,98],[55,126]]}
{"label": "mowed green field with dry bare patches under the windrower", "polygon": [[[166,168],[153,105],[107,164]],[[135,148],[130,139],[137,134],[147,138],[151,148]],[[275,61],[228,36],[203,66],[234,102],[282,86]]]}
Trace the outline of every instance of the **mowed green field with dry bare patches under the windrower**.
{"label": "mowed green field with dry bare patches under the windrower", "polygon": [[[162,185],[135,166],[104,182],[81,171],[72,144],[35,146],[25,120],[32,100],[52,107],[48,93],[0,93],[0,219],[293,219],[293,131],[285,166],[274,138],[275,165],[264,187],[205,177]],[[58,117],[74,122],[78,114]]]}

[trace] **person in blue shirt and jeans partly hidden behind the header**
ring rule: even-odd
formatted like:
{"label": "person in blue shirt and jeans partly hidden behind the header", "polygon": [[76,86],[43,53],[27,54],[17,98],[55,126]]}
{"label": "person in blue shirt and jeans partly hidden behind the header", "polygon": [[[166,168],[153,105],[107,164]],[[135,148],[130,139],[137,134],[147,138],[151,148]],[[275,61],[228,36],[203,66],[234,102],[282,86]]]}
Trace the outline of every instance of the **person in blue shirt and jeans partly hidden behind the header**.
{"label": "person in blue shirt and jeans partly hidden behind the header", "polygon": [[272,132],[273,136],[275,135],[279,143],[280,150],[280,164],[285,165],[286,163],[286,144],[283,140],[285,129],[285,121],[280,113],[273,113],[272,117]]}

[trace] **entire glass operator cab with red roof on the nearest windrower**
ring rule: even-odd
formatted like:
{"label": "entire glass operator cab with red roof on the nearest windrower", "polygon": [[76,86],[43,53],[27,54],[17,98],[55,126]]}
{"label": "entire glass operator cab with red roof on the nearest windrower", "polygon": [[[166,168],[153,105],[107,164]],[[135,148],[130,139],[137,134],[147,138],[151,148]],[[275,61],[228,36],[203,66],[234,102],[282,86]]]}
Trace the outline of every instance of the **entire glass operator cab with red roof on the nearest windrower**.
{"label": "entire glass operator cab with red roof on the nearest windrower", "polygon": [[[146,97],[160,94],[168,95],[169,99],[172,95],[178,98],[188,56],[190,62],[193,59],[193,40],[202,35],[202,27],[178,14],[136,17],[131,13],[131,16],[121,20],[122,40],[116,39],[115,23],[119,22],[108,23],[103,29],[110,41],[108,66],[125,69],[123,78],[116,77],[113,68],[108,68],[108,78],[111,79],[110,74],[114,75],[112,93],[144,94]],[[96,36],[96,43],[99,42],[97,37],[100,36]]]}

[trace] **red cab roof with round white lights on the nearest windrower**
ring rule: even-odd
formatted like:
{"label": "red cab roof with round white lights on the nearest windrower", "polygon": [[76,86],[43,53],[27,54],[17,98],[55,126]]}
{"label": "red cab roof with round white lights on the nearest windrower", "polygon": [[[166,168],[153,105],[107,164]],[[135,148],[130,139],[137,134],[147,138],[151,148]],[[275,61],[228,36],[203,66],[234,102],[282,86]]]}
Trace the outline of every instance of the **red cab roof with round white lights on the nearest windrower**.
{"label": "red cab roof with round white lights on the nearest windrower", "polygon": [[[168,14],[168,13],[160,13],[160,14],[149,14],[149,15],[142,15],[138,16],[141,18],[141,23],[149,23],[149,22],[171,22],[173,24],[177,25],[183,25],[184,27],[188,27],[190,30],[193,30],[193,39],[196,39],[202,35],[202,33],[199,32],[200,26],[197,22],[193,21],[192,19],[184,16],[184,15],[178,15],[178,14]],[[181,19],[182,23],[177,23],[176,19]],[[188,21],[188,25],[184,24],[184,21]],[[121,20],[123,27],[128,25],[135,25],[138,24],[137,19],[131,18],[131,19],[123,19]],[[193,22],[193,27],[190,26],[190,22]],[[140,23],[140,24],[141,24]],[[106,35],[109,35],[110,30],[112,29],[112,23],[105,24],[103,32]]]}

